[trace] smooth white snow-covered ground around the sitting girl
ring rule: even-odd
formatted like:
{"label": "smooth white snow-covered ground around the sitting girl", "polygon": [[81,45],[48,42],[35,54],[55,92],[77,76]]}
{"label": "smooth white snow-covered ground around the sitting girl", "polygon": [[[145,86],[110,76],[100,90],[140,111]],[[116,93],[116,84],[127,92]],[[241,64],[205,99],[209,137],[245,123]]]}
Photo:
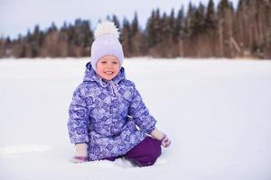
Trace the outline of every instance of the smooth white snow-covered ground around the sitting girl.
{"label": "smooth white snow-covered ground around the sitting girl", "polygon": [[173,140],[154,166],[82,164],[68,107],[88,58],[0,59],[0,179],[271,179],[271,61],[126,59],[158,128]]}

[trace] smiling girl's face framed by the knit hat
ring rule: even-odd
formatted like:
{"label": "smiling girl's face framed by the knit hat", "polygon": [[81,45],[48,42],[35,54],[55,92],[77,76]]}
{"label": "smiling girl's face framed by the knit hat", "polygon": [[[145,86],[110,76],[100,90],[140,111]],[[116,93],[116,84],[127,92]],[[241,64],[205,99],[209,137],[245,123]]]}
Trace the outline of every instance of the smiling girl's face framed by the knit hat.
{"label": "smiling girl's face framed by the knit hat", "polygon": [[117,76],[119,72],[120,64],[118,58],[111,55],[99,58],[96,64],[96,69],[98,76],[110,81]]}

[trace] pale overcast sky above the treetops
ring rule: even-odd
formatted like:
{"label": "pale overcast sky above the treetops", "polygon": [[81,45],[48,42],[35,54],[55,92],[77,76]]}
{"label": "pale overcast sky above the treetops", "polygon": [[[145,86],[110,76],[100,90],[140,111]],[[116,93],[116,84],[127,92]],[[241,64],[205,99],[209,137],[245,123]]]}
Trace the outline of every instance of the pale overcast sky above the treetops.
{"label": "pale overcast sky above the treetops", "polygon": [[[192,4],[208,4],[209,0],[192,0]],[[220,0],[214,0],[217,5]],[[135,12],[141,26],[145,26],[153,9],[169,14],[182,5],[188,7],[190,0],[0,0],[0,37],[16,38],[18,34],[33,31],[36,24],[42,30],[51,23],[61,27],[64,22],[74,23],[78,18],[89,20],[93,29],[98,20],[116,14],[120,22],[126,17],[131,21]],[[231,0],[236,5],[238,0]]]}

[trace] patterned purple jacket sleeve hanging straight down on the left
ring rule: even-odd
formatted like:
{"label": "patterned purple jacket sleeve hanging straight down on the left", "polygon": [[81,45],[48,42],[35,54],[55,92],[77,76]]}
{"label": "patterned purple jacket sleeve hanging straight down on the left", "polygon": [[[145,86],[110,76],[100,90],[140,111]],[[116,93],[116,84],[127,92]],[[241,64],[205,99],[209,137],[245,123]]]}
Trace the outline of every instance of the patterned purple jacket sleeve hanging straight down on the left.
{"label": "patterned purple jacket sleeve hanging straight down on the left", "polygon": [[68,130],[70,142],[75,144],[89,142],[89,110],[83,92],[83,86],[79,85],[73,93],[69,108]]}

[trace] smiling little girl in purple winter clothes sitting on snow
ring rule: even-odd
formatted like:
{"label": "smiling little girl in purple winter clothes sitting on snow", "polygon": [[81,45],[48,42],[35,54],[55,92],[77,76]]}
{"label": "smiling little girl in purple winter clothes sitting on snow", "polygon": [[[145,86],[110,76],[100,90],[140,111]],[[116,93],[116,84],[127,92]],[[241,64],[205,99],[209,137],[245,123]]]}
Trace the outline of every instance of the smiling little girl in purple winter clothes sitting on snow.
{"label": "smiling little girl in purple winter clothes sitting on snow", "polygon": [[154,165],[170,139],[155,128],[122,67],[124,53],[114,23],[99,23],[83,82],[73,93],[68,129],[74,163],[126,157],[137,166]]}

